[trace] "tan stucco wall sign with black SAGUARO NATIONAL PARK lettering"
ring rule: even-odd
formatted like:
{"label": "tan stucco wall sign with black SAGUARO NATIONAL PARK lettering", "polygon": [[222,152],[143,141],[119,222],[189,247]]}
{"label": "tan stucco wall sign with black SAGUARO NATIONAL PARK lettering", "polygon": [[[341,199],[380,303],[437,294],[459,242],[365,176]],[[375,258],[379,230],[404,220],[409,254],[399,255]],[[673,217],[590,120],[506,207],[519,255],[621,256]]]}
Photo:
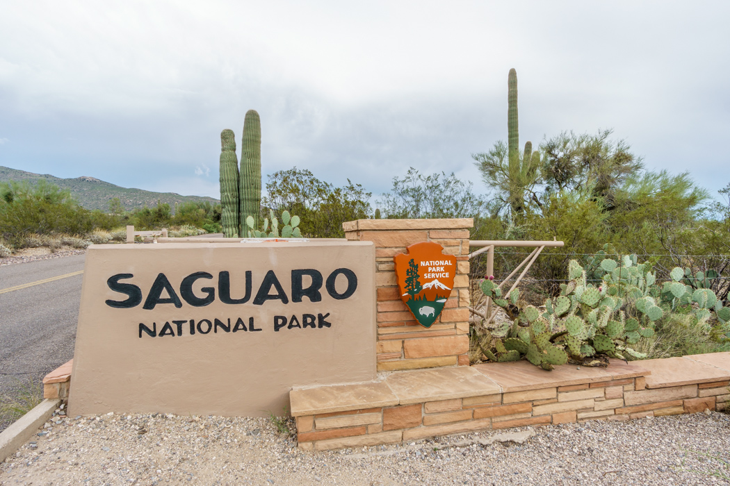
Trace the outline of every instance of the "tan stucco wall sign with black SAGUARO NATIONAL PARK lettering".
{"label": "tan stucco wall sign with black SAGUARO NATIONAL PARK lettering", "polygon": [[367,242],[91,246],[72,414],[280,414],[375,374]]}

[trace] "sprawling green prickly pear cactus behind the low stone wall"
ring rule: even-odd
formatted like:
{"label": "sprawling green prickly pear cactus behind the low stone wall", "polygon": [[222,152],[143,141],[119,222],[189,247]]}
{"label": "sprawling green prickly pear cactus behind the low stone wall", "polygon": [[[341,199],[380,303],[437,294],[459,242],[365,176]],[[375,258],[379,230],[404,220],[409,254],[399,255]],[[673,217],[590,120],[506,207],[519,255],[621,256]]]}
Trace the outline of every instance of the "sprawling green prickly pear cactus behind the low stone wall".
{"label": "sprawling green prickly pear cactus behind the low stone wall", "polygon": [[[723,307],[709,289],[707,278],[717,278],[710,271],[693,275],[677,267],[669,274],[672,281],[659,285],[649,264],[639,263],[636,255],[612,259],[602,251],[585,268],[572,260],[568,273],[571,280],[561,285],[560,296],[545,301],[542,315],[527,305],[512,324],[500,327],[494,334],[498,339],[496,350],[490,351],[492,361],[506,359],[502,350],[510,353],[510,360],[516,352],[547,370],[568,361],[605,366],[609,357],[646,358],[635,347],[653,337],[656,324],[680,306],[690,309],[699,321],[714,314],[730,337],[730,308]],[[483,281],[481,288],[496,305],[517,304],[515,291],[510,300],[499,298],[502,294],[493,281]],[[488,353],[485,356],[492,359]]]}

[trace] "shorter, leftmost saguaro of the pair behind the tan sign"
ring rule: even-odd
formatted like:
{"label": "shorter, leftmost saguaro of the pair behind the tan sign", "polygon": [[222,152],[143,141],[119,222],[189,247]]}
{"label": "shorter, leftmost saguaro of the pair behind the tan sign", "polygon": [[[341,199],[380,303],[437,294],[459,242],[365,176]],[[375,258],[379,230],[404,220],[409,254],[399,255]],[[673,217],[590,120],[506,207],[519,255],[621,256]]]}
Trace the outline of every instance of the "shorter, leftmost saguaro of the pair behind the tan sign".
{"label": "shorter, leftmost saguaro of the pair behind the tan sign", "polygon": [[[239,235],[239,181],[236,137],[233,130],[220,132],[220,224],[226,238]],[[177,203],[175,203],[177,205]]]}

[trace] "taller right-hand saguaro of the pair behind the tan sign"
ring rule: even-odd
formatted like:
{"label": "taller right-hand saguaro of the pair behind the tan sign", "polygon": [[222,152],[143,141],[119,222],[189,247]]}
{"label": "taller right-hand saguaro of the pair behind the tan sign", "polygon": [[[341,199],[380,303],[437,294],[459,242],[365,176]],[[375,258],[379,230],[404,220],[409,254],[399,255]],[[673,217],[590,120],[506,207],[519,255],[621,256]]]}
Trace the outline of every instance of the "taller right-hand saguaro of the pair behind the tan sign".
{"label": "taller right-hand saguaro of the pair behind the tan sign", "polygon": [[243,122],[239,180],[240,227],[245,228],[246,219],[251,216],[254,227],[258,228],[261,219],[261,119],[255,110],[248,110]]}

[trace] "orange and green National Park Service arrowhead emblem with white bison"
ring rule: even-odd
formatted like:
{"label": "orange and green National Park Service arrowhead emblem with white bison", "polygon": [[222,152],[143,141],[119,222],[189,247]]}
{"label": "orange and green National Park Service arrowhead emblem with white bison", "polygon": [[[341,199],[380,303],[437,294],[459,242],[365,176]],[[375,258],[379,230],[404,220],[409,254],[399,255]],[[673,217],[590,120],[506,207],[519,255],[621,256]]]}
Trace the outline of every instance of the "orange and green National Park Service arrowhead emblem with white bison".
{"label": "orange and green National Park Service arrowhead emblem with white bison", "polygon": [[433,241],[415,243],[393,256],[401,300],[421,326],[431,327],[446,305],[456,275],[456,256]]}

